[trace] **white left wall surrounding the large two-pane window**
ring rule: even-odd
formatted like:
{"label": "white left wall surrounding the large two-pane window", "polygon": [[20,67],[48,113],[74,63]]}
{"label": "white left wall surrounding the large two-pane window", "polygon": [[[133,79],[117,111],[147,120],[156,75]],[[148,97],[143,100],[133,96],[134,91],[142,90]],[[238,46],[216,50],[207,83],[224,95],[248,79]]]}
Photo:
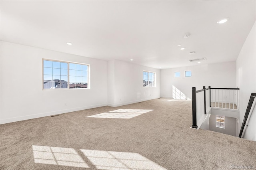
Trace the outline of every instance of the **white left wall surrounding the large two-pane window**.
{"label": "white left wall surrounding the large two-pane window", "polygon": [[[90,64],[90,89],[42,90],[42,58]],[[108,103],[107,61],[1,42],[0,64],[0,123],[100,107]]]}

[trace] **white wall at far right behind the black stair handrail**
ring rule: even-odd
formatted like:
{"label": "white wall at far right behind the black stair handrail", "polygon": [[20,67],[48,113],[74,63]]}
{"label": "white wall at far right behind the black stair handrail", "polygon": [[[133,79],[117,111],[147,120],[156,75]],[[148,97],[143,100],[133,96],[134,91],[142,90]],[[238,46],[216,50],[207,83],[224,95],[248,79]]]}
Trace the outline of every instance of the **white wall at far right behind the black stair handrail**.
{"label": "white wall at far right behind the black stair handrail", "polygon": [[[240,127],[251,93],[256,93],[256,22],[236,60],[236,83],[240,88]],[[256,109],[248,122],[244,138],[256,141]]]}

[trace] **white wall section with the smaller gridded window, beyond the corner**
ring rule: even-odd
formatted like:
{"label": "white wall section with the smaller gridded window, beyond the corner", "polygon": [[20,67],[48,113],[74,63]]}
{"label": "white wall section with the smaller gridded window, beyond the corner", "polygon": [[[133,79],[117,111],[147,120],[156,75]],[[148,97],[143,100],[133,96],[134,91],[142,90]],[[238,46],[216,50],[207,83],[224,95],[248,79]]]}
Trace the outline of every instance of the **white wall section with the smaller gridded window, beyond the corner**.
{"label": "white wall section with the smaller gridded window, beyond the corner", "polygon": [[[114,62],[114,64],[112,63]],[[160,98],[160,70],[124,61],[109,61],[109,67],[114,65],[114,100],[108,105],[116,107]],[[109,68],[110,70],[110,68]],[[143,71],[156,73],[156,87],[143,87]],[[110,89],[109,87],[108,89]],[[113,102],[114,103],[110,103]]]}

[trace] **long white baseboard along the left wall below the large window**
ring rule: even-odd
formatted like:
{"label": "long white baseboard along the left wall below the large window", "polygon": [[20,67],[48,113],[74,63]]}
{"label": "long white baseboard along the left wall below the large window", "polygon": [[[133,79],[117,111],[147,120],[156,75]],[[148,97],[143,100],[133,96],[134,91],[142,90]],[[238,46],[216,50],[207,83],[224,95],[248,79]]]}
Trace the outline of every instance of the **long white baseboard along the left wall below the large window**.
{"label": "long white baseboard along the left wall below the large window", "polygon": [[58,114],[69,113],[69,112],[74,112],[74,111],[81,111],[81,110],[85,110],[85,109],[92,109],[92,108],[102,107],[102,106],[107,106],[107,104],[92,105],[92,106],[86,106],[86,107],[78,107],[78,108],[73,108],[73,109],[66,109],[66,110],[60,110],[60,111],[38,113],[38,114],[34,114],[34,115],[26,115],[26,116],[20,116],[20,117],[12,117],[12,118],[8,118],[8,119],[1,119],[0,124],[24,121],[24,120],[28,120],[28,119],[35,119],[35,118],[58,115]]}

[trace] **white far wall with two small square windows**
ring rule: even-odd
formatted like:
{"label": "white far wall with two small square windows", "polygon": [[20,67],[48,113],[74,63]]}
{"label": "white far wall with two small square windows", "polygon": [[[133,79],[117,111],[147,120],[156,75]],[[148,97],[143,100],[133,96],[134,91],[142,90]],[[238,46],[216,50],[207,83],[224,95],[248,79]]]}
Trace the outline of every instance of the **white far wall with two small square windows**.
{"label": "white far wall with two small square windows", "polygon": [[[180,77],[174,77],[174,72],[180,71]],[[185,71],[192,71],[192,77],[185,77]],[[192,87],[197,90],[203,86],[217,88],[236,87],[236,62],[198,64],[190,67],[180,67],[161,70],[161,97],[172,98],[172,86],[192,99]]]}

